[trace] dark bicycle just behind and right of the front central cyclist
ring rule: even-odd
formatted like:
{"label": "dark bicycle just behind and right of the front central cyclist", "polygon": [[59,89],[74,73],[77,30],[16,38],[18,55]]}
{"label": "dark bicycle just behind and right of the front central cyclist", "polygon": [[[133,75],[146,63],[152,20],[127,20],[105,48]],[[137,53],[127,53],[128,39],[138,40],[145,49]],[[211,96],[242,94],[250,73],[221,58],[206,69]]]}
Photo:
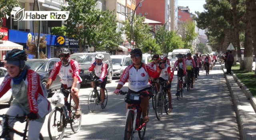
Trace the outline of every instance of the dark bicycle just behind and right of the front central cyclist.
{"label": "dark bicycle just behind and right of the front central cyclist", "polygon": [[163,114],[163,109],[165,110],[166,114],[168,115],[168,107],[169,107],[169,100],[168,97],[166,97],[167,94],[167,80],[164,80],[161,82],[160,80],[157,80],[157,83],[160,83],[160,90],[156,94],[156,100],[155,100],[155,112],[156,112],[156,118],[158,120],[161,120],[162,114]]}

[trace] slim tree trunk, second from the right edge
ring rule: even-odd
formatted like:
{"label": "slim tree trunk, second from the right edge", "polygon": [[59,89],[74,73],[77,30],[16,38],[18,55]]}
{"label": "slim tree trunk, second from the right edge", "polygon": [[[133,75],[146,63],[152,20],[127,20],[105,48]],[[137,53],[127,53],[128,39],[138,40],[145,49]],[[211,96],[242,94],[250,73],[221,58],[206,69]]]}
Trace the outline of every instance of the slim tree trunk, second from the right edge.
{"label": "slim tree trunk, second from the right edge", "polygon": [[[241,57],[241,50],[240,50],[240,40],[239,40],[239,30],[238,30],[238,18],[237,18],[237,10],[236,10],[236,0],[232,0],[232,14],[233,14],[233,24],[234,24],[234,39],[235,39],[235,49],[237,50],[237,60],[238,62],[242,62],[242,57]],[[235,57],[236,58],[236,57]],[[236,64],[236,60],[234,60],[234,63]]]}

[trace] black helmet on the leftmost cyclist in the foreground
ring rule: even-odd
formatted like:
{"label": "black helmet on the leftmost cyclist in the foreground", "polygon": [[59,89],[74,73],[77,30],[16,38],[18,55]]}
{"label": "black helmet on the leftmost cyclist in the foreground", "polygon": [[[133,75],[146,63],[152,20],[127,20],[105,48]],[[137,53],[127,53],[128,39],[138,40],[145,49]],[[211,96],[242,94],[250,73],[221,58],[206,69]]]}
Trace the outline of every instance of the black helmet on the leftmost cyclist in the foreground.
{"label": "black helmet on the leftmost cyclist in the foreground", "polygon": [[7,61],[14,61],[14,60],[26,61],[27,57],[28,57],[28,55],[24,50],[12,49],[6,54],[5,60],[7,60]]}

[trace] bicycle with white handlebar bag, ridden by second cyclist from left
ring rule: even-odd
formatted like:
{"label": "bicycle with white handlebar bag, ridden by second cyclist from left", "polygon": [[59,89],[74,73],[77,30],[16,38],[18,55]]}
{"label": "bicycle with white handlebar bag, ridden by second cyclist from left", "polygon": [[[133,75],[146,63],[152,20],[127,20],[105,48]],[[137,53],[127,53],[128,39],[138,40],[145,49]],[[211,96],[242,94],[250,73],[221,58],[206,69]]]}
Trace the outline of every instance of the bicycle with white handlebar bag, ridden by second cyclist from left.
{"label": "bicycle with white handlebar bag, ridden by second cyclist from left", "polygon": [[[70,90],[62,90],[62,92],[70,94]],[[66,101],[64,106],[52,109],[48,118],[48,134],[51,140],[61,140],[68,123],[70,123],[71,130],[74,133],[79,132],[82,115],[79,118],[76,117],[76,104],[73,101],[71,104],[71,100],[72,97],[70,96],[69,102]],[[81,113],[80,105],[79,108]]]}

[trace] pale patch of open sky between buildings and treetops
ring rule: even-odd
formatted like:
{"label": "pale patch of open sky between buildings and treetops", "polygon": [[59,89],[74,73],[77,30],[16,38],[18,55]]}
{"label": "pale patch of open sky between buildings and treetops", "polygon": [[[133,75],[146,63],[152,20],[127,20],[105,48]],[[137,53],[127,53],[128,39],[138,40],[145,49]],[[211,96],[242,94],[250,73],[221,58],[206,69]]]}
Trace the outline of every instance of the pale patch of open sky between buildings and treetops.
{"label": "pale patch of open sky between buildings and treetops", "polygon": [[195,11],[204,12],[205,3],[205,0],[178,0],[178,6],[188,6],[192,14],[195,14]]}

